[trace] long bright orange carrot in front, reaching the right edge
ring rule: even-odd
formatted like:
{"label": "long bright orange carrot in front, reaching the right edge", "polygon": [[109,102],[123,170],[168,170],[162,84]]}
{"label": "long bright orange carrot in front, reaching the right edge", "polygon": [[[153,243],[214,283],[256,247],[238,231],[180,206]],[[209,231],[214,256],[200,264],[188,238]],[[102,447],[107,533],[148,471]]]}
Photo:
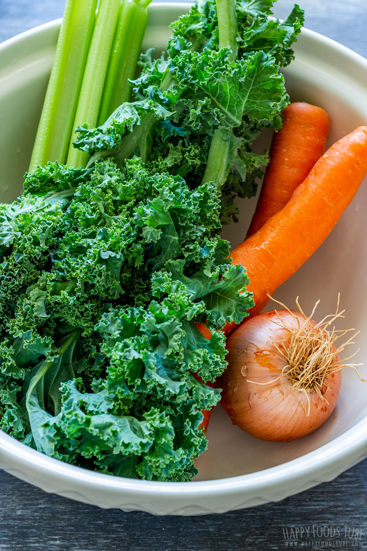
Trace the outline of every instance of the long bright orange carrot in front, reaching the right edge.
{"label": "long bright orange carrot in front, reaching the right edge", "polygon": [[[366,173],[367,126],[361,126],[333,144],[288,203],[232,251],[233,263],[247,268],[254,309],[326,239]],[[227,324],[223,331],[228,335],[235,327]]]}

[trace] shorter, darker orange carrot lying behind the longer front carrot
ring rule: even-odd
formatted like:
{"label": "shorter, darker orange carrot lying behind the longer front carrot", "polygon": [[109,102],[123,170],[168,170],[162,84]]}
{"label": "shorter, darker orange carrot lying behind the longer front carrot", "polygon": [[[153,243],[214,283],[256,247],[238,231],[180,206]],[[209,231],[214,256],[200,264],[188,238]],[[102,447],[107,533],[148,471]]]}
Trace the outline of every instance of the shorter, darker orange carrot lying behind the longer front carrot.
{"label": "shorter, darker orange carrot lying behind the longer front carrot", "polygon": [[321,107],[302,102],[283,110],[283,125],[274,133],[270,161],[247,237],[289,201],[325,151],[329,120]]}

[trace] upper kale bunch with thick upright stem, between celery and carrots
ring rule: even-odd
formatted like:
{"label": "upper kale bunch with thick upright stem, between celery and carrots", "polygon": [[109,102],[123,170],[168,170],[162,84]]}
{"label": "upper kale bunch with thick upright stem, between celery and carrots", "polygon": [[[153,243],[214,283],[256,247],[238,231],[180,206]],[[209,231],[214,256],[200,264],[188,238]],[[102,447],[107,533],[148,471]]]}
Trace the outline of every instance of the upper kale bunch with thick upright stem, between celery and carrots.
{"label": "upper kale bunch with thick upright stem, between celery and carrots", "polygon": [[136,101],[118,107],[100,127],[79,126],[75,147],[92,156],[90,164],[137,154],[157,170],[185,177],[190,187],[212,180],[222,188],[221,223],[237,220],[237,197],[255,195],[269,161],[251,145],[262,128],[281,127],[289,98],[280,68],[291,62],[304,20],[297,5],[284,21],[269,19],[273,3],[235,2],[233,59],[230,49],[220,48],[216,2],[194,2],[171,25],[168,55],[154,59],[151,48],[140,56],[142,71],[132,81]]}

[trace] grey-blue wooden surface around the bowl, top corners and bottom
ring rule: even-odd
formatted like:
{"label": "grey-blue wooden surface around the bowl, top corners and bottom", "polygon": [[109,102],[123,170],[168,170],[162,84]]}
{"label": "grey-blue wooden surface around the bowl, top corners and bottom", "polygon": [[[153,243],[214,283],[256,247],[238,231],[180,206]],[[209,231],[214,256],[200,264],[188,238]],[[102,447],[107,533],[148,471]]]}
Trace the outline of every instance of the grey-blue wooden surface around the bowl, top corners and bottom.
{"label": "grey-blue wooden surface around the bowl, top corners and bottom", "polygon": [[[299,3],[308,28],[367,57],[366,0]],[[0,0],[0,42],[61,17],[63,4]],[[276,15],[292,4],[278,0]],[[287,537],[302,527],[298,548],[367,548],[367,460],[281,503],[200,517],[100,510],[0,471],[0,551],[265,551],[296,547]]]}

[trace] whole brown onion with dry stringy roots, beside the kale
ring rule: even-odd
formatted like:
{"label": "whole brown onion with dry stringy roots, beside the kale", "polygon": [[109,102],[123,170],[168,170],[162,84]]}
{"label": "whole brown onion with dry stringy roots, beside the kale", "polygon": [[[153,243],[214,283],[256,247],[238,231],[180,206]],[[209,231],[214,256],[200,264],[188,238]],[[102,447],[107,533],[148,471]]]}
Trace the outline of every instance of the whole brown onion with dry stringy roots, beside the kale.
{"label": "whole brown onion with dry stringy roots, beside the kale", "polygon": [[233,424],[262,440],[300,438],[330,417],[346,366],[339,354],[355,336],[336,348],[335,341],[352,329],[326,327],[343,312],[316,323],[296,302],[300,312],[263,312],[227,339],[221,404]]}

